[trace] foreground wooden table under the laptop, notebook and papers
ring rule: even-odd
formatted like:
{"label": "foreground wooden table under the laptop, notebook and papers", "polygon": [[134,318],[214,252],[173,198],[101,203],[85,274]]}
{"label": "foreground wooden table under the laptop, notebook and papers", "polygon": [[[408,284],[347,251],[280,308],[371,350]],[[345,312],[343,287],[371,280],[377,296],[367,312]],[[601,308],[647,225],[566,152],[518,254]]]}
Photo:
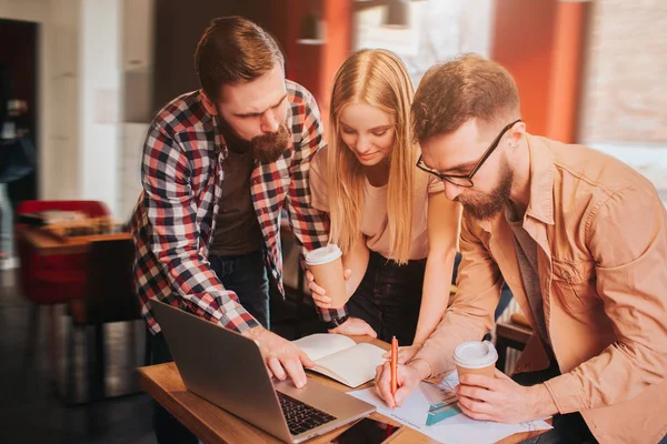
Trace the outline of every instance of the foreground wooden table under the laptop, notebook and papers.
{"label": "foreground wooden table under the laptop, notebook and papers", "polygon": [[[385,350],[389,349],[389,344],[370,337],[352,337],[357,342],[370,342]],[[282,443],[278,438],[265,433],[253,425],[240,420],[232,414],[219,408],[208,401],[189,392],[183,384],[183,381],[178,373],[173,363],[151,365],[139,369],[141,386],[146,392],[167,408],[178,421],[188,427],[195,435],[207,444],[220,443]],[[341,392],[347,392],[350,389],[318,374],[308,372],[308,379],[318,381],[329,385]],[[365,384],[358,389],[367,389],[372,383]],[[371,418],[376,418],[386,423],[398,425],[395,421],[374,413]],[[318,436],[308,443],[323,444],[329,443],[336,436],[346,431],[348,426],[337,428],[325,435]],[[499,443],[511,444],[519,443],[529,437],[536,436],[541,432],[518,433],[506,437]],[[432,443],[428,436],[408,428],[402,427],[391,437],[391,444],[427,444]]]}

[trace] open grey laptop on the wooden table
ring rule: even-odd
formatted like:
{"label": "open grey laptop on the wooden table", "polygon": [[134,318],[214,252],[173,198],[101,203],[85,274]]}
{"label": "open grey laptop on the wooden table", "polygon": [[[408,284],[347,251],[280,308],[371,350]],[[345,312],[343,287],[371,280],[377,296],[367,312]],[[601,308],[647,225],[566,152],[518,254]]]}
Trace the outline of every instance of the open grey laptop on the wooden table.
{"label": "open grey laptop on the wooden table", "polygon": [[286,443],[301,443],[376,411],[310,379],[302,389],[289,379],[271,381],[255,341],[150,302],[186,387]]}

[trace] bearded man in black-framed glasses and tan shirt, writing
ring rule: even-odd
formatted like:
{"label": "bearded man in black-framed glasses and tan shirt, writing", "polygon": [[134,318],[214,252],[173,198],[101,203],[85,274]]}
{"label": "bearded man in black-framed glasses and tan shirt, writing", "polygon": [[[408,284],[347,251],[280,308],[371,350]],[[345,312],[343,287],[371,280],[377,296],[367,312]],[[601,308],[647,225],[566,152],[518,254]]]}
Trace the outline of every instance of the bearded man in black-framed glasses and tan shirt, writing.
{"label": "bearded man in black-framed glasses and tan shirt, writing", "polygon": [[476,420],[554,416],[540,443],[665,443],[667,212],[648,180],[526,132],[511,75],[475,54],[431,68],[412,103],[418,168],[465,208],[458,292],[422,349],[377,391],[401,405],[494,326],[504,279],[535,334],[512,379],[462,375]]}

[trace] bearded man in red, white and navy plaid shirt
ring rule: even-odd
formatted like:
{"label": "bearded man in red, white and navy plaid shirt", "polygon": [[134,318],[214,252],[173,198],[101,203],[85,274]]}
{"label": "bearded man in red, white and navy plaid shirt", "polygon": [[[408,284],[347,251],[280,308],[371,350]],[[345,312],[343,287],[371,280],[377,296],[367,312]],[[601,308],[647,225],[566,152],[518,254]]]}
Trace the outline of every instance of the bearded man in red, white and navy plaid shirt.
{"label": "bearded man in red, white and navy plaid shirt", "polygon": [[[269,373],[302,386],[303,365],[313,364],[268,330],[267,270],[282,291],[283,208],[303,252],[328,242],[328,220],[310,206],[308,185],[310,161],[325,145],[319,110],[285,79],[276,41],[240,17],[213,20],[195,61],[201,90],[168,103],[150,125],[130,224],[152,363],[171,361],[151,314],[158,299],[256,340]],[[342,315],[322,313],[326,321]],[[159,405],[153,422],[160,443],[197,442]]]}

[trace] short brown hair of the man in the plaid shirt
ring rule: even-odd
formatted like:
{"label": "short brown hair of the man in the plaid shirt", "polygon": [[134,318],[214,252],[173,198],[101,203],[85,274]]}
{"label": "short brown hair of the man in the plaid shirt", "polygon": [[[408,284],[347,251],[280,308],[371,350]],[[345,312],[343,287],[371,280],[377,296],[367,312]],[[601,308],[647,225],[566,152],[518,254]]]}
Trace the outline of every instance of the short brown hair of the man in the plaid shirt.
{"label": "short brown hair of the man in the plaid shirt", "polygon": [[199,83],[211,100],[218,98],[222,85],[257,79],[276,63],[285,63],[276,40],[238,16],[213,19],[195,51]]}

